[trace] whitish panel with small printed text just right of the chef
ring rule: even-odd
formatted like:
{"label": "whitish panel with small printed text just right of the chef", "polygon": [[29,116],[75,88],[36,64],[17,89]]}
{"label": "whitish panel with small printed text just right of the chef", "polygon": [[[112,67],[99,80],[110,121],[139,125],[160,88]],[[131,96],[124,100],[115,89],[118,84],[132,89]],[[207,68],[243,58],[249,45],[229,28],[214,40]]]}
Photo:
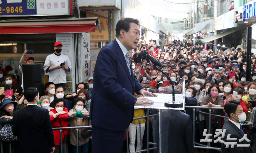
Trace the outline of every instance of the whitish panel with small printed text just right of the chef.
{"label": "whitish panel with small printed text just right of the chef", "polygon": [[56,33],[56,42],[59,41],[62,43],[62,51],[61,54],[69,57],[72,68],[70,71],[66,71],[66,89],[65,94],[72,94],[75,92],[75,77],[74,77],[74,35],[73,33]]}

